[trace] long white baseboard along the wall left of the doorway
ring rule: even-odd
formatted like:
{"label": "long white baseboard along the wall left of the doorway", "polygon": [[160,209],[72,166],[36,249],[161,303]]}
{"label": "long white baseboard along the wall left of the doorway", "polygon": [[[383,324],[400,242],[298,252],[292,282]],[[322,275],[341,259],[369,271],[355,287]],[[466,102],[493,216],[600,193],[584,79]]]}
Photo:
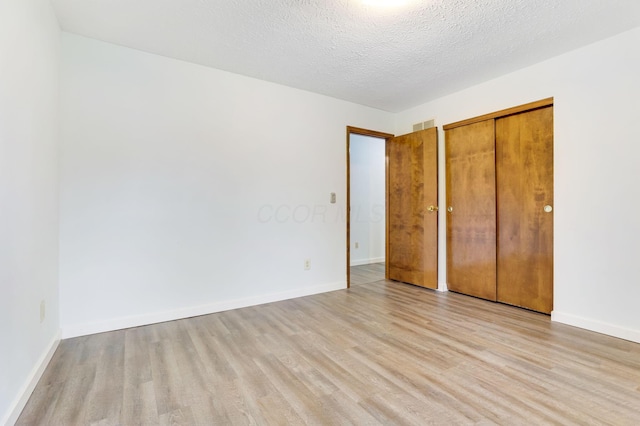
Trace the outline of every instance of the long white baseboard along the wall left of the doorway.
{"label": "long white baseboard along the wall left of the doorway", "polygon": [[326,293],[329,291],[342,290],[345,288],[347,288],[346,281],[323,284],[314,287],[305,287],[301,289],[285,291],[282,293],[248,297],[246,299],[226,300],[207,305],[180,308],[165,312],[114,318],[101,322],[66,325],[62,327],[62,337],[64,339],[68,339],[71,337],[86,336],[89,334],[103,333],[106,331],[121,330],[124,328],[139,327],[142,325],[156,324],[159,322],[197,317],[200,315],[229,311],[231,309],[246,308],[248,306],[262,305],[263,303],[279,302],[281,300],[310,296],[312,294]]}

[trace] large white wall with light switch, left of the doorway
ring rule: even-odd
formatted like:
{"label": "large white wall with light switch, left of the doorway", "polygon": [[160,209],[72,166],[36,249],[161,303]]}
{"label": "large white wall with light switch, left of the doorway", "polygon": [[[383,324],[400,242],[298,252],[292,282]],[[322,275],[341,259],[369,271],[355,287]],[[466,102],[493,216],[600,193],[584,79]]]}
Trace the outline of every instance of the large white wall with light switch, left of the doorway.
{"label": "large white wall with light switch, left of the doorway", "polygon": [[63,336],[346,286],[346,126],[388,131],[390,114],[62,45]]}

